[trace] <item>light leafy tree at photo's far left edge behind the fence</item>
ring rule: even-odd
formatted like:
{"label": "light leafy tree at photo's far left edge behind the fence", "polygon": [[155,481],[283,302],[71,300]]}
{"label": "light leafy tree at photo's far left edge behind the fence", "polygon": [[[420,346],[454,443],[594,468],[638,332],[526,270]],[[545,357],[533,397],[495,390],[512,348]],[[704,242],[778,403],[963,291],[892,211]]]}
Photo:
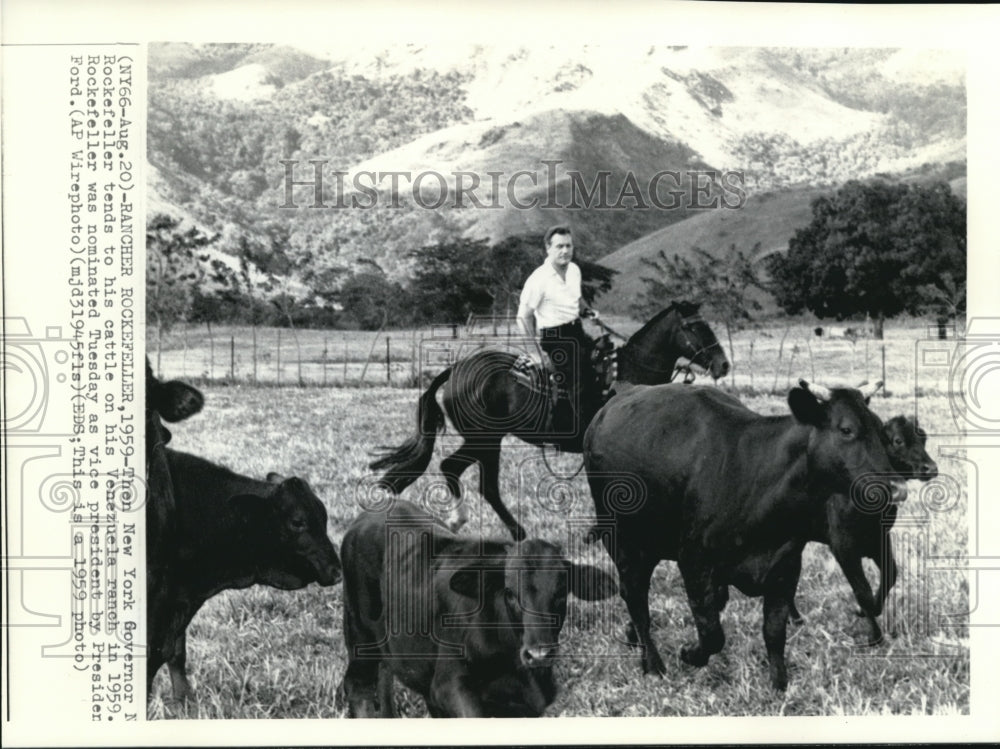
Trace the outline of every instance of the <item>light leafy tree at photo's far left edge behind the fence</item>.
{"label": "light leafy tree at photo's far left edge behind the fence", "polygon": [[198,251],[217,239],[195,226],[181,231],[180,225],[180,219],[165,213],[146,222],[146,310],[156,321],[157,370],[163,332],[188,319],[205,281],[208,257]]}

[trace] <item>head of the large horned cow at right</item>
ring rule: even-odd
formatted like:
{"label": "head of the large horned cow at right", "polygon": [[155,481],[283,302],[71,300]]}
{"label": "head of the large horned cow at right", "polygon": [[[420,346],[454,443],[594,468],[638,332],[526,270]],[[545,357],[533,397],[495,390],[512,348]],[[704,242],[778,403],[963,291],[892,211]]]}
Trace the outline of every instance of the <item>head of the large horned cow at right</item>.
{"label": "head of the large horned cow at right", "polygon": [[893,502],[906,499],[906,483],[887,452],[885,427],[868,408],[871,392],[854,388],[828,390],[799,381],[788,394],[796,420],[811,427],[810,474],[829,493],[855,496],[887,492]]}

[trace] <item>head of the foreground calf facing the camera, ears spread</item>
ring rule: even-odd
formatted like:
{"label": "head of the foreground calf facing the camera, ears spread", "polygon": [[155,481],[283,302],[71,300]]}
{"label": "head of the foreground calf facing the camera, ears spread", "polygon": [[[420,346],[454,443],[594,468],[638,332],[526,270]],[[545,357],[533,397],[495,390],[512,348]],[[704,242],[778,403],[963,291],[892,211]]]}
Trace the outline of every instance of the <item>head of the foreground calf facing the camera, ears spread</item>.
{"label": "head of the foreground calf facing the camera, ears spread", "polygon": [[[484,596],[493,606],[500,636],[528,667],[551,666],[566,619],[566,597],[586,601],[618,592],[604,571],[570,562],[556,544],[528,539],[510,544],[502,566],[471,564],[451,577],[451,589],[468,597]],[[482,591],[482,593],[480,593]]]}

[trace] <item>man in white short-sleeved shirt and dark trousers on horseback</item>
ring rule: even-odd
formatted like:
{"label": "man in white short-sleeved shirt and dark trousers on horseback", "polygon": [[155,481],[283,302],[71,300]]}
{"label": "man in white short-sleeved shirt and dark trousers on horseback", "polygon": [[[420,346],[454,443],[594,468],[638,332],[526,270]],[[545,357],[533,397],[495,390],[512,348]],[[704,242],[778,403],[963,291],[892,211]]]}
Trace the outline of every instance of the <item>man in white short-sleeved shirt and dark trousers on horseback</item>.
{"label": "man in white short-sleeved shirt and dark trousers on horseback", "polygon": [[581,317],[596,320],[598,314],[583,299],[569,227],[553,226],[545,233],[545,252],[545,262],[524,283],[517,321],[524,334],[539,345],[543,364],[555,372],[548,431],[572,440],[582,434],[580,427],[598,405],[590,392],[594,343],[580,322]]}

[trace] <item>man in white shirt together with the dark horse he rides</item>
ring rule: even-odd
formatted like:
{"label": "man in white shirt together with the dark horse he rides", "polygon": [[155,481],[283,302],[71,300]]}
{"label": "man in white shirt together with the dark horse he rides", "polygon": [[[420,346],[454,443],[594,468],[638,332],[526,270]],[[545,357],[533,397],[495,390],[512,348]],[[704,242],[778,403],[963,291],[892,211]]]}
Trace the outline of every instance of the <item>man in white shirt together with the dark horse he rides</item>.
{"label": "man in white shirt together with the dark horse he rides", "polygon": [[[541,328],[540,353],[547,357],[566,387],[560,399],[554,433],[548,414],[549,399],[521,377],[522,356],[510,351],[481,349],[459,359],[440,372],[417,400],[416,431],[402,444],[385,447],[369,464],[384,471],[374,487],[393,495],[403,492],[427,470],[434,442],[451,421],[462,443],[441,461],[448,492],[456,500],[449,516],[452,530],[468,519],[467,503],[461,502],[462,474],[479,466],[479,491],[500,520],[517,539],[525,538],[524,527],[500,496],[500,445],[511,434],[532,445],[557,444],[568,452],[583,449],[587,424],[602,405],[603,387],[592,374],[593,344],[584,335],[580,316],[596,318],[581,301],[580,269],[572,262],[573,239],[566,227],[553,227],[545,237],[548,258],[524,285],[518,319],[534,342]],[[611,356],[609,368],[618,383],[657,385],[669,382],[680,358],[708,372],[712,379],[729,372],[719,341],[698,314],[699,305],[674,301],[648,320]],[[534,370],[534,367],[531,368]],[[558,388],[557,388],[558,389]],[[437,402],[441,391],[441,404]],[[575,409],[576,406],[579,410]]]}

